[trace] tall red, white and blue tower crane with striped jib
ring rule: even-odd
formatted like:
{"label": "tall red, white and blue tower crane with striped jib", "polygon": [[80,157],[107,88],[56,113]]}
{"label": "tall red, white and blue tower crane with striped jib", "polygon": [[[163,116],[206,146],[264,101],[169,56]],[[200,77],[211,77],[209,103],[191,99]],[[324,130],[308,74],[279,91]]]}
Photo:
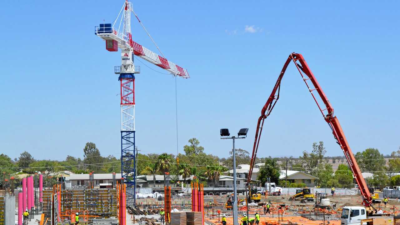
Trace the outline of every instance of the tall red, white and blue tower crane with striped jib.
{"label": "tall red, white and blue tower crane with striped jib", "polygon": [[[140,73],[140,66],[134,64],[134,56],[136,55],[163,68],[164,70],[167,70],[173,76],[180,76],[182,78],[190,77],[188,70],[174,64],[165,57],[152,52],[148,48],[145,48],[132,40],[130,24],[132,12],[134,13],[132,3],[125,0],[116,20],[114,20],[112,24],[99,24],[99,26],[95,26],[94,29],[94,34],[106,41],[106,50],[117,52],[119,48],[121,49],[121,65],[114,66],[114,73],[119,74],[118,80],[120,81],[121,175],[122,179],[124,179],[124,183],[126,183],[126,199],[128,204],[136,204],[134,82],[135,74]],[[139,20],[136,14],[135,16]],[[118,19],[120,19],[119,23],[117,23]],[[158,48],[158,46],[156,47]]]}

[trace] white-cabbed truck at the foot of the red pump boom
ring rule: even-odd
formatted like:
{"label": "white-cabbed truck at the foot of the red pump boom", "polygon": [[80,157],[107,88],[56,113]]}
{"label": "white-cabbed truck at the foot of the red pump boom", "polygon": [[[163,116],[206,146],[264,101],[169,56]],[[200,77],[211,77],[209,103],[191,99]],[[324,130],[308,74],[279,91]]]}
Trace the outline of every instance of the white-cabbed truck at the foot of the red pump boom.
{"label": "white-cabbed truck at the foot of the red pump boom", "polygon": [[[376,214],[374,214],[376,215]],[[343,207],[342,216],[340,216],[340,225],[360,225],[362,219],[367,219],[368,222],[364,221],[362,224],[394,224],[394,217],[390,216],[369,216],[367,217],[367,211],[361,206],[345,206]]]}

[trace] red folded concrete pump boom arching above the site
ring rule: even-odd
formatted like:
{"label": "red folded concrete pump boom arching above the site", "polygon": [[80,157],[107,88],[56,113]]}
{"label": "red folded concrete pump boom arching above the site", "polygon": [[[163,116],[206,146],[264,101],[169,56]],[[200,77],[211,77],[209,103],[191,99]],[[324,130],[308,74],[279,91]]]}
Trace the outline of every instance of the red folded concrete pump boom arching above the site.
{"label": "red folded concrete pump boom arching above the site", "polygon": [[[270,94],[264,107],[262,107],[261,116],[258,118],[256,137],[254,139],[253,153],[252,153],[252,158],[251,158],[251,162],[250,162],[250,171],[248,174],[247,184],[250,184],[255,159],[257,156],[258,144],[260,143],[262,127],[264,125],[264,120],[270,115],[270,113],[272,112],[272,109],[274,108],[276,102],[279,99],[280,82],[286,71],[286,68],[288,67],[288,65],[291,61],[293,61],[294,64],[296,65],[296,68],[300,72],[300,75],[302,76],[303,81],[305,82],[308,90],[310,91],[312,98],[314,98],[314,101],[316,102],[319,110],[321,111],[322,116],[324,117],[326,123],[328,123],[328,125],[332,129],[332,133],[333,133],[334,138],[336,139],[336,143],[338,143],[340,145],[340,148],[342,148],[342,150],[343,150],[344,156],[346,157],[347,162],[350,165],[350,168],[353,172],[354,178],[356,179],[358,187],[360,188],[361,195],[363,196],[362,205],[364,205],[366,207],[371,206],[372,198],[371,198],[370,192],[368,190],[368,186],[366,185],[365,180],[362,177],[360,168],[358,167],[357,161],[354,158],[354,155],[349,147],[346,137],[344,136],[342,127],[340,127],[339,120],[336,116],[333,115],[334,110],[332,108],[332,105],[330,104],[324,91],[322,91],[322,88],[321,88],[320,84],[318,84],[318,81],[316,80],[314,74],[312,74],[310,68],[308,67],[308,65],[306,63],[306,60],[304,60],[304,58],[301,54],[294,53],[294,52],[292,54],[290,54],[288,59],[286,60],[284,66],[282,68],[282,71],[279,74],[278,80],[276,80],[274,89],[272,89],[272,93]],[[312,83],[312,86],[309,85],[309,82],[307,82],[308,80],[310,80],[310,82]],[[317,101],[316,95],[314,95],[313,91],[316,91],[318,93],[322,102],[324,102],[325,108],[321,108],[320,104]]]}

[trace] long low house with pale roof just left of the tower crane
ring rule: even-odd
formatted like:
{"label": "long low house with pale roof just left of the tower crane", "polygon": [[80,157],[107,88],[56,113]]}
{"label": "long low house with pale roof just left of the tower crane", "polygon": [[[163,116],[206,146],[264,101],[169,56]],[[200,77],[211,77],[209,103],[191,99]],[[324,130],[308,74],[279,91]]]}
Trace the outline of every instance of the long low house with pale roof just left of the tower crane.
{"label": "long low house with pale roof just left of the tower crane", "polygon": [[[71,174],[65,178],[67,188],[86,188],[89,186],[89,174]],[[121,180],[121,174],[115,174],[116,182]],[[94,188],[109,187],[113,183],[112,173],[95,173],[93,175]]]}

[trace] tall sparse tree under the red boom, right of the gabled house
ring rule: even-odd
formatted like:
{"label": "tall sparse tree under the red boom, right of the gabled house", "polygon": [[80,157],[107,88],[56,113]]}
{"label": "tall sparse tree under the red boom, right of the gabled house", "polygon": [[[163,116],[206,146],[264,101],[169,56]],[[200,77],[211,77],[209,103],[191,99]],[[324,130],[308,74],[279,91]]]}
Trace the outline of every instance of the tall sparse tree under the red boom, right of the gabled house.
{"label": "tall sparse tree under the red boom, right of the gabled house", "polygon": [[326,153],[324,142],[320,141],[319,144],[312,144],[312,152],[308,153],[307,151],[303,152],[303,156],[300,156],[302,159],[302,164],[305,166],[306,171],[311,175],[316,175],[316,170],[313,168],[317,168],[318,164],[324,163],[324,155]]}

